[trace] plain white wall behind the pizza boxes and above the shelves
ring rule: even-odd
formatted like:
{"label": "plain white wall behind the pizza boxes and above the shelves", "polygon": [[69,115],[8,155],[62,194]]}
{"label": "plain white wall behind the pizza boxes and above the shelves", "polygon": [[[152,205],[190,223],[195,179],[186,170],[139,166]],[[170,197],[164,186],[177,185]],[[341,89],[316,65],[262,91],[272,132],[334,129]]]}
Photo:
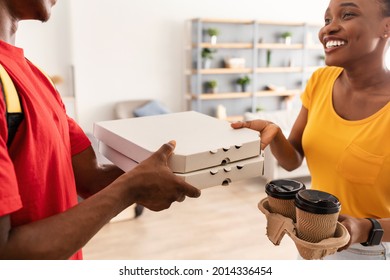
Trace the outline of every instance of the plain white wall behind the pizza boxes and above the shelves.
{"label": "plain white wall behind the pizza boxes and above the shelves", "polygon": [[[26,48],[26,54],[31,54],[34,61],[53,74],[66,73],[74,65],[78,121],[86,131],[92,130],[93,122],[112,118],[112,105],[120,100],[153,98],[173,111],[183,109],[187,20],[213,17],[322,22],[328,3],[327,0],[58,2],[52,19],[45,24],[47,27],[24,23],[20,44]],[[69,88],[66,90],[70,92]]]}

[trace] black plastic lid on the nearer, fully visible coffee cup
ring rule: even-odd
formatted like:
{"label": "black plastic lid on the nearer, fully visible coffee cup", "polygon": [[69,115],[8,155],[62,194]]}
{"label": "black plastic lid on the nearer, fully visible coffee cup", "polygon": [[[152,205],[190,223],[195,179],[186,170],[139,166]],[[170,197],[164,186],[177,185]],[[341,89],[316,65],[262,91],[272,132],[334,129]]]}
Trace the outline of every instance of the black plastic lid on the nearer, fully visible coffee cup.
{"label": "black plastic lid on the nearer, fully visible coffee cup", "polygon": [[314,214],[334,214],[340,211],[341,204],[334,195],[318,190],[302,190],[296,194],[295,206]]}

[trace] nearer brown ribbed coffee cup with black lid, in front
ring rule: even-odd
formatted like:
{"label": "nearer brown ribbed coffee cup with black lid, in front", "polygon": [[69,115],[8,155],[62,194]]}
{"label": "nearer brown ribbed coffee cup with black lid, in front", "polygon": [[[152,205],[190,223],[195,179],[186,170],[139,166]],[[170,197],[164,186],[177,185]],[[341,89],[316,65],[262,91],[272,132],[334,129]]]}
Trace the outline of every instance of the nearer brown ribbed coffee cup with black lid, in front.
{"label": "nearer brown ribbed coffee cup with black lid, in front", "polygon": [[298,238],[318,243],[334,237],[341,204],[334,195],[306,189],[295,197]]}

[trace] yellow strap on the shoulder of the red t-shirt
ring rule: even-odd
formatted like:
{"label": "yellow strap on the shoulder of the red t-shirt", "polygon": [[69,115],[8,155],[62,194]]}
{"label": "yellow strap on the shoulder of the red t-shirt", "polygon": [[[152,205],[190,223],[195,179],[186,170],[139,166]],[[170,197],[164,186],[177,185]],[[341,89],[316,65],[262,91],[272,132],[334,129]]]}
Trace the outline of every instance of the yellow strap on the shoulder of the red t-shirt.
{"label": "yellow strap on the shoulder of the red t-shirt", "polygon": [[19,95],[16,91],[15,85],[4,67],[0,64],[0,79],[3,83],[3,91],[5,96],[5,103],[7,105],[8,113],[21,113]]}

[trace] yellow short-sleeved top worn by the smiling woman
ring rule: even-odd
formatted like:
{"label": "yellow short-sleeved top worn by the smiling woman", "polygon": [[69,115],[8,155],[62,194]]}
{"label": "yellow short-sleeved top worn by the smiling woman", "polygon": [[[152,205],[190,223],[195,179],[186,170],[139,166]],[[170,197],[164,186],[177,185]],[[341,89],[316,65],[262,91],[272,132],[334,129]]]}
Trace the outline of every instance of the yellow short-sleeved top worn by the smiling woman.
{"label": "yellow short-sleeved top worn by the smiling woman", "polygon": [[317,70],[301,96],[308,109],[302,145],[312,188],[338,197],[343,214],[390,217],[390,103],[362,120],[341,118],[332,90],[342,71]]}

